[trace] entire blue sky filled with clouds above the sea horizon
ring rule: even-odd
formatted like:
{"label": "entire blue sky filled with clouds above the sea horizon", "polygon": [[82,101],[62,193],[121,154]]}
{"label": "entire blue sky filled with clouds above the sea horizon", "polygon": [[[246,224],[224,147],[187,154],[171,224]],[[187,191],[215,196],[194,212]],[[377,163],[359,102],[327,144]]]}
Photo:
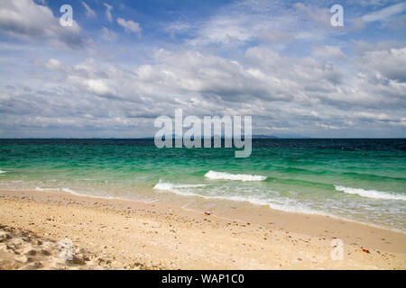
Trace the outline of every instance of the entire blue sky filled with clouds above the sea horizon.
{"label": "entire blue sky filled with clouds above the sea horizon", "polygon": [[253,134],[405,138],[405,43],[398,0],[0,0],[0,138],[151,137],[179,108],[253,116]]}

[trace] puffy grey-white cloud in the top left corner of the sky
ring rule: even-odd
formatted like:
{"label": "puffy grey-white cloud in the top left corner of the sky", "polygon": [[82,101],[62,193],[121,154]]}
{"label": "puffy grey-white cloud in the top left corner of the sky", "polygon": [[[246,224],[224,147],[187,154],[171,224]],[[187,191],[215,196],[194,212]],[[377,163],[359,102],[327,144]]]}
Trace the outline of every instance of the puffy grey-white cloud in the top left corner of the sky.
{"label": "puffy grey-white cloud in the top left corner of the sky", "polygon": [[62,27],[50,8],[32,0],[2,1],[0,31],[23,40],[46,40],[53,46],[78,48],[84,45],[78,23],[73,21],[71,27]]}

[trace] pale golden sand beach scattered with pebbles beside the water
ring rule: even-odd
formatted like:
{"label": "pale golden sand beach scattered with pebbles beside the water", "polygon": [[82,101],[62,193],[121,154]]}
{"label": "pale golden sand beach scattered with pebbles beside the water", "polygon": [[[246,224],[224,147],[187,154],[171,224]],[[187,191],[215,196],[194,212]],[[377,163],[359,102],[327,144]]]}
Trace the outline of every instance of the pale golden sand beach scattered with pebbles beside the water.
{"label": "pale golden sand beach scattered with pebbles beside the water", "polygon": [[[39,191],[0,191],[0,207],[3,269],[406,268],[406,234],[328,216],[254,205],[206,215]],[[66,238],[68,260],[60,255]],[[343,259],[333,260],[340,240]]]}

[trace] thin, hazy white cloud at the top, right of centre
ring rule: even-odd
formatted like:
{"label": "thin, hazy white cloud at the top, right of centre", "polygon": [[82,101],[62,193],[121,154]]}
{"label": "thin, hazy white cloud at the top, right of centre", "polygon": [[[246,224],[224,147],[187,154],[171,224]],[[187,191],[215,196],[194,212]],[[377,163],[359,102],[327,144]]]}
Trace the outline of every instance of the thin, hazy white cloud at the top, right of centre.
{"label": "thin, hazy white cloud at the top, right of centre", "polygon": [[334,29],[330,19],[329,7],[316,4],[243,0],[227,4],[207,21],[194,23],[192,29],[184,32],[190,33],[188,43],[194,47],[230,49],[256,41],[283,45],[293,41],[321,41],[345,32]]}

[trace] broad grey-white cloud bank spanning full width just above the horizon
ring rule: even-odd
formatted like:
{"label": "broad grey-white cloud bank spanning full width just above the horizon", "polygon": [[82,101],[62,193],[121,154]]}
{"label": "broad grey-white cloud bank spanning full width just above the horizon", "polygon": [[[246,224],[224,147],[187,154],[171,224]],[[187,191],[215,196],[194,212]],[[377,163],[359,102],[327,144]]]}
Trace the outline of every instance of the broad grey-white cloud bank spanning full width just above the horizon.
{"label": "broad grey-white cloud bank spanning full width just above the horizon", "polygon": [[151,136],[155,117],[181,107],[198,116],[253,115],[255,133],[399,132],[405,127],[405,85],[370,81],[364,69],[374,75],[390,67],[361,65],[373,62],[363,57],[382,51],[383,61],[403,57],[401,49],[371,47],[344,71],[264,47],[247,49],[238,61],[188,49],[156,49],[150,64],[132,67],[92,58],[77,64],[37,60],[47,85],[31,91],[0,87],[0,122],[8,132],[31,127],[54,136],[59,128],[65,137],[87,137],[85,131],[95,137]]}

